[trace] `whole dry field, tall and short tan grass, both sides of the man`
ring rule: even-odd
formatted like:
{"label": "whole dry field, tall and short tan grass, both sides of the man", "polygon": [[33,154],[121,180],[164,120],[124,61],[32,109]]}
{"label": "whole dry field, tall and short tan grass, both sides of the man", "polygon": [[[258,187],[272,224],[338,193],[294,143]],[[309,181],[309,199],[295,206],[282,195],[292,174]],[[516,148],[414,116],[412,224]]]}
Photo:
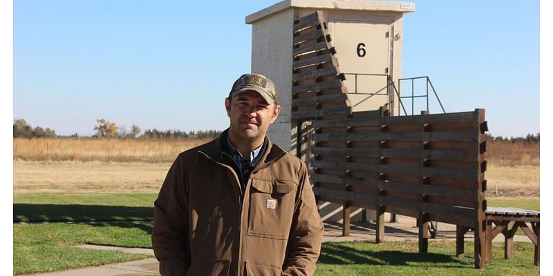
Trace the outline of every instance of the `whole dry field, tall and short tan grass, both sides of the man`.
{"label": "whole dry field, tall and short tan grass, both sides of the man", "polygon": [[[14,139],[14,193],[158,193],[178,153],[203,142]],[[487,160],[489,197],[539,197],[539,144],[491,141]]]}

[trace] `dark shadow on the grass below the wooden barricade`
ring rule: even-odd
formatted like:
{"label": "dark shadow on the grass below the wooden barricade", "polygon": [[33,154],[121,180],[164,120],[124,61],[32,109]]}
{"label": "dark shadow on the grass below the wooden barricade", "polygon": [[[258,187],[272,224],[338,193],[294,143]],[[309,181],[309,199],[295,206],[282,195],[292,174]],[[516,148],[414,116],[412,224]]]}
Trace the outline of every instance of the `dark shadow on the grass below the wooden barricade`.
{"label": "dark shadow on the grass below the wooden barricade", "polygon": [[319,264],[371,264],[409,266],[409,262],[444,264],[447,267],[466,267],[460,259],[435,253],[406,253],[399,250],[359,250],[341,244],[323,244]]}

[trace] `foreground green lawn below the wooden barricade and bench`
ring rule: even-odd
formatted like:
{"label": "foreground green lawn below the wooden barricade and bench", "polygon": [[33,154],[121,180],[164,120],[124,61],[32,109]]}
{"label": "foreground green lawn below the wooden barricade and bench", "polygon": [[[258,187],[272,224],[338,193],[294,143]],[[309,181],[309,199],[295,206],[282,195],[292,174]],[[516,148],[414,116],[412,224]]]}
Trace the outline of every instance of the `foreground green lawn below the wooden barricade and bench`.
{"label": "foreground green lawn below the wooden barricade and bench", "polygon": [[494,244],[491,265],[474,268],[474,242],[465,242],[465,258],[455,257],[455,242],[430,240],[429,253],[418,242],[344,242],[323,244],[315,275],[539,275],[534,246],[516,243],[514,260],[503,259],[503,244]]}

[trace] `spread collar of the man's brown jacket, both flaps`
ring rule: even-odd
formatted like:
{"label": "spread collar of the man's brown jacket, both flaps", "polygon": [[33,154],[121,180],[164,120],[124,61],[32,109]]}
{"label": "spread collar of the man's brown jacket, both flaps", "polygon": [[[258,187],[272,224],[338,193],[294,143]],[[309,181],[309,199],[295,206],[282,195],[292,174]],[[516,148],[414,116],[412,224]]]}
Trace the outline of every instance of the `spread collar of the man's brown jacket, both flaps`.
{"label": "spread collar of the man's brown jacket, both flaps", "polygon": [[[227,152],[227,135],[229,129],[221,133],[221,135],[205,144],[198,151],[203,152],[210,159],[214,159],[219,163],[223,163],[223,154]],[[267,149],[263,152],[263,156],[259,159],[259,162],[256,167],[264,166],[265,164],[270,164],[274,161],[277,161],[281,156],[285,154],[285,151],[282,150],[279,146],[275,145],[270,141],[270,139],[265,136],[265,141],[268,141]]]}

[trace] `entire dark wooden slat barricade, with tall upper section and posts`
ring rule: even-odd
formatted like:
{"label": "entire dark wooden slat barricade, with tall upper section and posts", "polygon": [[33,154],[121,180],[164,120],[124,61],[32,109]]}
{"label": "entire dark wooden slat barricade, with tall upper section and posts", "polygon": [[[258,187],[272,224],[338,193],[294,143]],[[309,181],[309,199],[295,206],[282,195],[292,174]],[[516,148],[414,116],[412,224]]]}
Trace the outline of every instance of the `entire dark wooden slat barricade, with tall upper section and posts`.
{"label": "entire dark wooden slat barricade, with tall upper section and posts", "polygon": [[458,255],[469,228],[475,266],[484,268],[484,110],[391,117],[386,107],[352,112],[344,75],[321,12],[294,21],[292,119],[315,129],[311,180],[318,200],[377,210],[377,242],[384,213],[417,217],[420,252],[429,221],[458,226]]}

